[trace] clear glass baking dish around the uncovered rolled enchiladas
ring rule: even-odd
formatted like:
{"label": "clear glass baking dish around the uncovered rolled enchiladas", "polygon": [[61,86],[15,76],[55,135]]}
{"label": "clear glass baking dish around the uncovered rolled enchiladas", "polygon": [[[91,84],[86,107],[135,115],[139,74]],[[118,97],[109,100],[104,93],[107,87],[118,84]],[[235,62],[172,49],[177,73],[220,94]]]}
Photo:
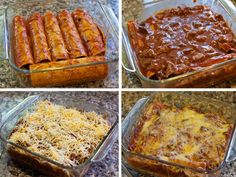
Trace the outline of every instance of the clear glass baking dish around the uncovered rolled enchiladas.
{"label": "clear glass baking dish around the uncovered rolled enchiladas", "polygon": [[[77,8],[85,9],[94,19],[95,23],[102,29],[106,37],[106,61],[104,62],[93,62],[87,64],[73,64],[66,67],[56,67],[49,69],[38,69],[30,71],[27,69],[20,69],[16,67],[12,49],[12,19],[16,15],[22,15],[28,17],[34,12],[45,13],[47,10],[58,12],[62,9],[67,9],[70,12]],[[0,10],[0,57],[7,59],[13,74],[19,78],[20,84],[24,87],[44,87],[44,86],[61,86],[61,85],[72,85],[81,82],[94,81],[105,79],[118,70],[118,20],[115,17],[111,8],[102,5],[96,0],[71,0],[62,2],[60,0],[46,0],[46,1],[27,1],[15,3],[8,6],[6,9]],[[99,66],[108,67],[108,71],[102,78],[96,77],[96,74],[92,73],[86,77],[78,77],[84,69],[89,71],[96,69]],[[81,71],[82,70],[82,71]],[[71,72],[70,72],[71,71]],[[73,72],[74,71],[74,72]],[[93,71],[93,70],[92,70]],[[60,72],[60,74],[58,74]],[[64,75],[67,72],[66,76]],[[71,73],[71,74],[68,74]],[[79,73],[80,72],[80,73]],[[33,75],[37,77],[45,77],[45,74],[50,75],[50,79],[45,79],[42,83],[32,81]],[[64,73],[64,74],[63,74]],[[72,74],[73,73],[73,74]],[[76,73],[79,73],[78,75]],[[41,74],[41,75],[40,75]],[[61,75],[61,80],[57,79],[58,75]],[[63,77],[64,75],[64,77]],[[56,80],[52,82],[52,80]]]}

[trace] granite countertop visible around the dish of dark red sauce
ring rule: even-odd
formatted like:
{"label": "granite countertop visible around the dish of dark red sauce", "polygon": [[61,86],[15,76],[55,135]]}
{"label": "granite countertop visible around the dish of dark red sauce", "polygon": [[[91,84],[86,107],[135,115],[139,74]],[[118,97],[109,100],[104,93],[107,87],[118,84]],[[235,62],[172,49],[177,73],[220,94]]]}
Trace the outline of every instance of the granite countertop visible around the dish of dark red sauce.
{"label": "granite countertop visible around the dish of dark red sauce", "polygon": [[[236,5],[236,0],[231,0]],[[122,14],[125,17],[125,19],[135,19],[137,18],[138,14],[143,10],[143,0],[133,0],[132,2],[129,0],[123,0],[122,5]],[[125,49],[123,47],[123,62],[126,63],[127,61],[127,55],[125,52]],[[126,63],[127,65],[127,63]],[[131,72],[126,71],[124,68],[122,68],[122,87],[123,88],[141,88],[142,84],[138,77]],[[230,81],[223,82],[218,85],[214,85],[212,87],[218,87],[218,88],[236,88],[236,79],[232,79]]]}

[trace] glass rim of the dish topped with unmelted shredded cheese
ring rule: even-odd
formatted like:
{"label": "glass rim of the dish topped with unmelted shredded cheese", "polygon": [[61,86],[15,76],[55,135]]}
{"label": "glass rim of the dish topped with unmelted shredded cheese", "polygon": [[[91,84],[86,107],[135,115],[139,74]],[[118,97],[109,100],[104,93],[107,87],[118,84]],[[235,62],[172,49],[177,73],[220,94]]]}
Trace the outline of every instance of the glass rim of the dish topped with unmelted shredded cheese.
{"label": "glass rim of the dish topped with unmelted shredded cheese", "polygon": [[[59,97],[62,97],[59,93],[55,93],[55,92],[54,92],[54,94],[58,95]],[[20,103],[18,103],[17,105],[13,106],[10,111],[16,109],[17,106],[18,106],[19,104],[21,104],[21,103],[22,103],[24,100],[26,100],[27,98],[30,98],[31,96],[36,96],[37,99],[34,100],[33,103],[30,103],[30,105],[24,105],[24,107],[21,108],[21,109],[23,109],[23,110],[26,110],[26,109],[28,109],[30,106],[32,106],[32,104],[36,103],[37,101],[42,100],[42,99],[46,99],[46,98],[44,97],[45,95],[46,95],[46,93],[40,93],[40,94],[36,94],[36,95],[35,95],[35,94],[29,95],[29,96],[27,96],[25,99],[23,99]],[[66,96],[66,97],[69,98],[69,99],[73,99],[72,96]],[[107,132],[107,134],[103,137],[102,141],[101,141],[101,142],[99,143],[99,145],[96,147],[96,149],[95,149],[94,152],[91,154],[91,156],[90,156],[85,162],[83,162],[83,163],[81,163],[81,164],[79,164],[79,165],[76,165],[76,166],[66,166],[66,165],[60,164],[59,162],[56,162],[56,161],[54,161],[54,160],[52,160],[52,159],[50,159],[50,158],[48,158],[48,157],[46,157],[46,156],[43,156],[43,155],[40,155],[40,154],[38,154],[38,153],[32,152],[32,151],[28,150],[27,148],[25,148],[25,147],[23,147],[23,146],[20,146],[20,145],[17,145],[17,144],[15,144],[15,143],[11,142],[11,141],[8,141],[8,139],[5,139],[5,138],[2,136],[1,133],[0,133],[0,140],[2,140],[3,142],[5,142],[6,145],[7,145],[7,144],[11,144],[12,146],[17,147],[17,148],[21,149],[22,151],[29,153],[29,154],[32,155],[33,157],[37,157],[37,158],[42,159],[42,160],[44,160],[44,161],[46,161],[46,162],[52,163],[53,165],[59,166],[60,168],[67,169],[67,170],[76,170],[76,169],[79,169],[79,168],[83,168],[84,166],[86,166],[87,164],[89,164],[89,163],[92,161],[92,159],[94,158],[94,156],[95,156],[97,153],[99,153],[99,151],[101,150],[101,147],[102,147],[103,144],[106,142],[106,140],[108,139],[108,137],[112,134],[112,132],[113,132],[113,130],[115,129],[116,125],[118,124],[118,121],[119,121],[119,120],[118,120],[117,113],[115,113],[113,110],[107,109],[107,108],[105,108],[105,107],[102,107],[102,106],[97,105],[97,104],[94,104],[94,103],[90,103],[90,102],[88,102],[88,101],[86,101],[86,100],[84,100],[84,99],[80,99],[79,102],[82,102],[82,104],[89,104],[89,105],[92,105],[92,106],[98,108],[99,110],[103,110],[103,112],[104,112],[104,111],[105,111],[105,112],[109,112],[109,113],[111,113],[113,116],[115,116],[115,118],[116,118],[115,121],[114,121],[114,123],[113,123],[113,125],[111,126],[111,128],[109,129],[109,131]],[[60,105],[60,104],[58,104],[58,105]],[[17,109],[19,110],[19,108],[17,108]],[[17,109],[16,109],[16,110],[17,110]],[[15,110],[15,111],[16,111],[16,110]],[[10,111],[8,111],[8,112],[10,112]],[[6,124],[7,124],[9,121],[11,121],[11,120],[9,120],[9,117],[8,117],[8,119],[6,119],[6,120],[2,123],[2,125],[0,126],[0,132],[2,131],[2,129],[6,126]]]}

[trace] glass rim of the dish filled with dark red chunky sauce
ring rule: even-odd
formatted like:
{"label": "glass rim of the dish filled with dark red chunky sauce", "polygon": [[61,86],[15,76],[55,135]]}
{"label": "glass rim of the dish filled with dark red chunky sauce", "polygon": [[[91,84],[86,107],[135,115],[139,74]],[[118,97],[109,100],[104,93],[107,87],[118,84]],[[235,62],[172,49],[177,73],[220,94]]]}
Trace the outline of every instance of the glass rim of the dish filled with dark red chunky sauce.
{"label": "glass rim of the dish filled with dark red chunky sauce", "polygon": [[[153,5],[154,3],[162,3],[164,2],[165,0],[152,0],[152,1],[149,1],[149,2],[146,2],[144,3],[144,5]],[[217,1],[217,2],[220,2],[221,5],[223,7],[225,7],[225,0],[211,0],[211,1]],[[234,7],[236,7],[236,5],[234,5]],[[228,10],[226,10],[226,8],[224,8],[225,11],[228,12]],[[228,12],[230,14],[230,12]],[[141,14],[139,14],[140,16]],[[211,66],[208,66],[208,67],[202,67],[198,70],[195,70],[195,71],[190,71],[190,72],[187,72],[187,73],[184,73],[184,74],[181,74],[181,75],[177,75],[177,76],[174,76],[174,77],[170,77],[170,78],[167,78],[167,79],[162,79],[162,80],[153,80],[153,79],[149,79],[148,77],[144,76],[143,73],[141,72],[140,70],[140,67],[138,65],[138,61],[137,61],[137,57],[136,57],[136,54],[135,52],[133,51],[132,49],[132,46],[131,46],[131,43],[130,43],[130,39],[128,37],[128,32],[127,32],[127,28],[126,28],[126,22],[125,22],[125,17],[124,15],[122,15],[122,38],[125,38],[125,40],[123,39],[122,40],[122,43],[123,43],[123,46],[125,48],[125,51],[126,53],[131,53],[132,57],[129,57],[129,55],[127,55],[127,58],[128,58],[128,63],[130,64],[130,61],[134,64],[132,64],[132,66],[134,66],[133,69],[135,69],[134,73],[136,75],[138,75],[138,77],[145,81],[145,82],[149,82],[149,83],[155,83],[155,84],[168,84],[168,83],[171,83],[172,81],[177,81],[179,79],[183,79],[183,78],[188,78],[189,76],[193,76],[193,75],[197,75],[198,73],[203,73],[203,72],[207,72],[207,71],[210,71],[210,69],[219,69],[227,64],[230,64],[230,63],[234,63],[236,62],[236,58],[232,58],[230,60],[226,60],[224,62],[220,62],[218,64],[213,64]],[[234,21],[236,23],[236,19],[235,18],[232,18],[232,21]],[[236,34],[235,34],[236,36]],[[127,43],[128,42],[128,43]]]}

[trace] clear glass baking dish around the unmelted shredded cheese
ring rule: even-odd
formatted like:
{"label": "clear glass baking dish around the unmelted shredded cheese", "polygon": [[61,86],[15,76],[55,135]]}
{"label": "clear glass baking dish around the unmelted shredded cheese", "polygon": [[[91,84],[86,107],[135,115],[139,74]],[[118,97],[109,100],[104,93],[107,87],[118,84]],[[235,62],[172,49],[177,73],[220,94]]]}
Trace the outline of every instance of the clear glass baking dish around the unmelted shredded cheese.
{"label": "clear glass baking dish around the unmelted shredded cheese", "polygon": [[[29,96],[6,114],[6,116],[4,117],[4,122],[0,127],[0,138],[2,140],[4,151],[7,152],[9,146],[12,146],[17,150],[23,151],[32,158],[28,158],[27,161],[23,160],[22,158],[17,158],[14,156],[11,156],[11,158],[39,172],[42,172],[43,170],[47,169],[45,170],[44,173],[49,176],[59,176],[58,174],[59,172],[61,172],[62,174],[60,176],[63,177],[83,176],[86,173],[89,166],[91,165],[91,163],[102,160],[109,151],[109,149],[112,147],[114,142],[117,140],[118,116],[113,111],[107,110],[103,107],[91,103],[87,103],[83,100],[76,100],[76,98],[74,97],[67,97],[66,100],[65,98],[62,98],[60,94],[56,94],[54,95],[54,97],[56,99],[54,99],[53,97],[48,97],[46,94]],[[95,151],[92,153],[90,158],[87,159],[84,163],[73,167],[64,166],[45,156],[33,153],[27,150],[26,148],[20,145],[16,145],[8,140],[8,137],[14,130],[17,123],[21,120],[21,118],[27,112],[33,112],[35,104],[37,104],[39,101],[46,99],[52,103],[63,105],[66,108],[74,108],[80,111],[95,111],[96,113],[102,115],[103,118],[110,123],[111,129],[109,130],[107,135],[103,138],[102,142],[98,145]],[[60,101],[60,100],[65,100],[65,101]]]}

